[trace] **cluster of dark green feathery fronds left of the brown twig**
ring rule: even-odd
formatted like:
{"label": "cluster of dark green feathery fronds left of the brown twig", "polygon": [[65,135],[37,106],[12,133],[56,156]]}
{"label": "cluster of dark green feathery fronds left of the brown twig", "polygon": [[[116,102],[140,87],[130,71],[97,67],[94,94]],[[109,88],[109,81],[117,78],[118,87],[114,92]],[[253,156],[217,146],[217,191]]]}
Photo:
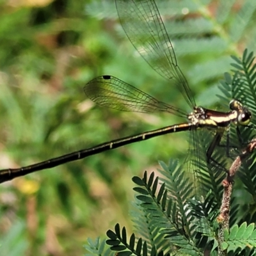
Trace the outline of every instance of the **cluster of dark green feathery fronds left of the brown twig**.
{"label": "cluster of dark green feathery fronds left of the brown twig", "polygon": [[[216,230],[211,225],[214,218],[214,207],[212,198],[209,196],[204,203],[198,200],[186,200],[189,193],[188,180],[182,180],[183,175],[181,169],[177,167],[177,163],[170,163],[170,166],[165,166],[161,163],[164,170],[173,173],[172,191],[166,189],[163,182],[159,182],[159,177],[155,177],[151,173],[145,172],[143,179],[134,177],[132,180],[137,185],[134,191],[138,193],[136,198],[141,202],[140,209],[142,212],[147,212],[148,224],[150,228],[141,225],[138,232],[143,229],[143,239],[151,237],[147,241],[142,242],[142,237],[137,239],[135,246],[135,236],[129,238],[127,243],[127,234],[125,228],[120,231],[119,225],[115,226],[115,231],[109,230],[107,235],[109,240],[107,244],[111,245],[111,249],[130,255],[158,255],[164,254],[176,255],[173,253],[183,253],[184,255],[204,255],[205,244],[212,244],[212,240]],[[183,173],[184,174],[184,173]],[[186,183],[188,182],[188,183]],[[189,193],[190,194],[190,193]],[[193,206],[193,207],[192,207]],[[134,216],[134,222],[138,227],[138,213]],[[211,221],[210,221],[211,220]],[[145,221],[144,221],[145,222]],[[198,225],[200,222],[200,225]],[[156,232],[157,231],[157,232]],[[147,234],[148,232],[148,234]],[[211,237],[205,243],[204,236],[206,234]],[[204,241],[204,242],[203,242]],[[141,245],[143,244],[143,246]],[[146,245],[147,244],[147,245]],[[147,248],[141,249],[141,248]],[[148,251],[149,249],[149,251]],[[147,252],[147,253],[146,253]],[[159,252],[158,254],[156,254]],[[129,254],[130,253],[130,254]]]}

